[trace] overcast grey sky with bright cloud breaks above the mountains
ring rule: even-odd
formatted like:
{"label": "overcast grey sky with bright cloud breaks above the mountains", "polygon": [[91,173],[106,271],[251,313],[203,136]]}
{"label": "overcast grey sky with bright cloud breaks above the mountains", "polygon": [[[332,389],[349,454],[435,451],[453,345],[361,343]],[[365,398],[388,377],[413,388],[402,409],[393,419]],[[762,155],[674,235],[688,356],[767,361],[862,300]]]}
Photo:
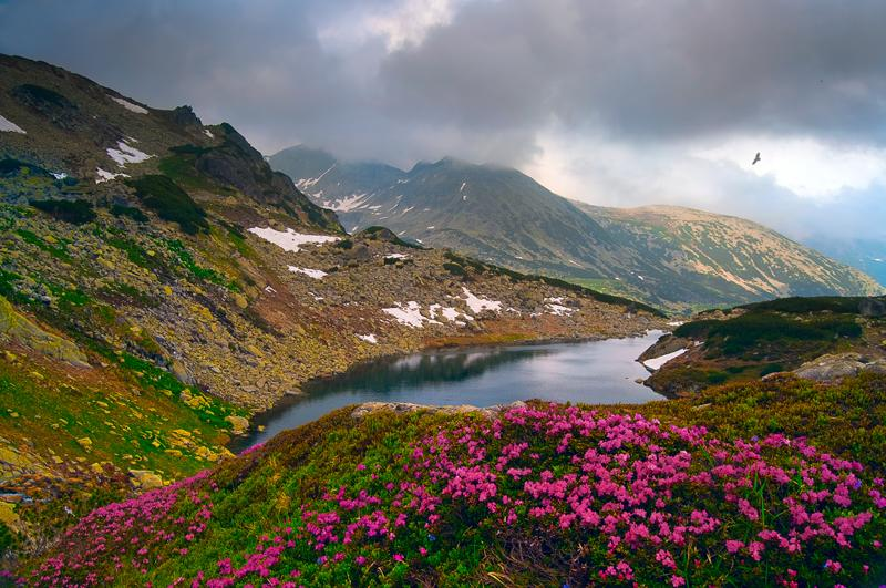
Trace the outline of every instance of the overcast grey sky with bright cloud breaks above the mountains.
{"label": "overcast grey sky with bright cloud breaks above the mountains", "polygon": [[882,0],[0,0],[0,52],[265,153],[452,155],[795,238],[886,240],[884,31]]}

